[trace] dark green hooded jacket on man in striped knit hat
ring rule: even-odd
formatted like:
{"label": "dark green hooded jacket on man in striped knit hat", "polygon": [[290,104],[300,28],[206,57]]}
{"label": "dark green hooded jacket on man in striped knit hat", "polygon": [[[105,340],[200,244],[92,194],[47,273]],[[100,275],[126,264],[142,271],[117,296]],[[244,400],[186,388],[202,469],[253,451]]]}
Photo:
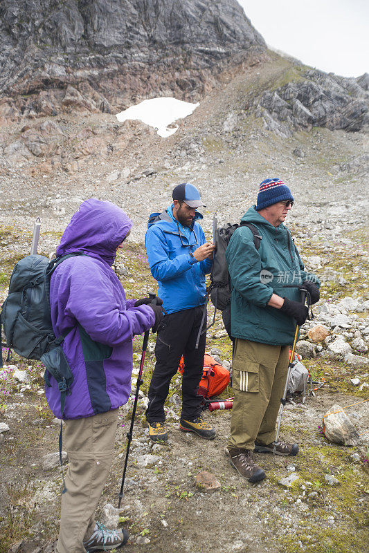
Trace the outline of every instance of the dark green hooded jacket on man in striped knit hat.
{"label": "dark green hooded jacket on man in striped knit hat", "polygon": [[255,206],[241,221],[253,223],[262,239],[256,250],[251,230],[240,226],[226,249],[232,287],[232,335],[273,346],[291,344],[296,321],[267,303],[273,293],[300,301],[298,288],[303,281],[309,279],[318,286],[320,282],[314,274],[305,272],[285,225],[273,227]]}

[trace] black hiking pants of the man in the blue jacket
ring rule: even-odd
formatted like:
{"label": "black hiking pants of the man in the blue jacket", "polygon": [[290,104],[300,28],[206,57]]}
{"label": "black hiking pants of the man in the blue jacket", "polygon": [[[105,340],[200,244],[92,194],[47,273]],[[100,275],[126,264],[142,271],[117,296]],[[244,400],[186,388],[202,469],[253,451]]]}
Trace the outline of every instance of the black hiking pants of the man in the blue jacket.
{"label": "black hiking pants of the man in the blue jacket", "polygon": [[182,355],[186,366],[182,379],[181,417],[193,420],[201,414],[203,398],[197,395],[197,391],[204,368],[206,332],[200,337],[199,347],[196,349],[195,346],[203,313],[204,306],[200,306],[163,317],[156,337],[156,364],[148,393],[147,422],[164,422],[164,402]]}

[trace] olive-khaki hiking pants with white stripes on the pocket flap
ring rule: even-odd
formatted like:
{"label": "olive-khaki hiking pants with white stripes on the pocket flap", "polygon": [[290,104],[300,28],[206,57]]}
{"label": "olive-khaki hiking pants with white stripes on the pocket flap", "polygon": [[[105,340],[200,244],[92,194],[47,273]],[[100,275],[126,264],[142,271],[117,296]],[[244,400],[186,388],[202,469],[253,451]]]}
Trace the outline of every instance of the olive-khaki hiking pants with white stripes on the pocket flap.
{"label": "olive-khaki hiking pants with white stripes on the pocket flap", "polygon": [[288,362],[289,346],[236,339],[232,366],[235,399],[228,446],[253,449],[256,439],[270,444],[276,438]]}

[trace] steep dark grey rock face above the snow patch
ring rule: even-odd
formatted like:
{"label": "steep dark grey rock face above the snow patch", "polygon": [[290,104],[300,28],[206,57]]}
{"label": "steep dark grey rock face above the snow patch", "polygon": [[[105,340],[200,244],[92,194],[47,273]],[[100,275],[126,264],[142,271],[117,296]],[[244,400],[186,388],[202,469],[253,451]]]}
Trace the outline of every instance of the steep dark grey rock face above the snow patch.
{"label": "steep dark grey rock face above the snow patch", "polygon": [[0,117],[198,98],[265,50],[235,0],[8,0],[0,6]]}

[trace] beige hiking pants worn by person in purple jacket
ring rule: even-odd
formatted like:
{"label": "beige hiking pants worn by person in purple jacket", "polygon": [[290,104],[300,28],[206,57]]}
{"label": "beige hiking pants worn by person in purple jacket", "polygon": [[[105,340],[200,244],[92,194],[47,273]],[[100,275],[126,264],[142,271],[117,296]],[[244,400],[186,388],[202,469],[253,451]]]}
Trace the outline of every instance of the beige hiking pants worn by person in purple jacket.
{"label": "beige hiking pants worn by person in purple jacket", "polygon": [[118,409],[65,421],[63,444],[69,469],[55,553],[86,552],[83,542],[95,527],[95,509],[114,456],[117,422]]}

